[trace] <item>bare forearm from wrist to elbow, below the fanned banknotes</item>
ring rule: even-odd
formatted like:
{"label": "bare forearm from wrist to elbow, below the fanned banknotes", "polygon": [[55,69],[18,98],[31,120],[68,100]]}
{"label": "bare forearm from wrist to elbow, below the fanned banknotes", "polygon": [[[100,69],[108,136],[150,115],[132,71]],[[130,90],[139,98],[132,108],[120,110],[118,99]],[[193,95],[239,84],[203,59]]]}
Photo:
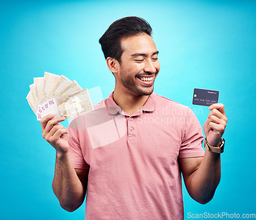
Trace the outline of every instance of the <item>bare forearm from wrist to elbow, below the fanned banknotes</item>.
{"label": "bare forearm from wrist to elbow, below the fanned banknotes", "polygon": [[60,206],[67,211],[76,210],[84,200],[84,189],[77,177],[69,152],[56,153],[53,191]]}

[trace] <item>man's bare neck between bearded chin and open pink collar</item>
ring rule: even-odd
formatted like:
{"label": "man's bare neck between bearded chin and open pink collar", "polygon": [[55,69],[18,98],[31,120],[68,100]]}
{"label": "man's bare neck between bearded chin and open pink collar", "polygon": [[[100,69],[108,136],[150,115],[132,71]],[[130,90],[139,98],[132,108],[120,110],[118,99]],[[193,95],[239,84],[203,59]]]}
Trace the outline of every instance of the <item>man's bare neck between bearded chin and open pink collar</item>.
{"label": "man's bare neck between bearded chin and open pink collar", "polygon": [[148,96],[134,95],[129,92],[123,93],[115,87],[113,98],[115,103],[122,107],[125,113],[133,115],[145,104]]}

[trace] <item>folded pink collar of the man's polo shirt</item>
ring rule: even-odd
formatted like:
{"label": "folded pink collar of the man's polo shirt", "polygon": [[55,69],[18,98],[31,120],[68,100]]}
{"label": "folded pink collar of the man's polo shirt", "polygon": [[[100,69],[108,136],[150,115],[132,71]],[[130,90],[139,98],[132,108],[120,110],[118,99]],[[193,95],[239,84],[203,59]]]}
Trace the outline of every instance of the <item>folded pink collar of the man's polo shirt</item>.
{"label": "folded pink collar of the man's polo shirt", "polygon": [[[106,98],[106,105],[108,107],[108,111],[111,115],[116,115],[118,112],[121,114],[123,109],[118,106],[113,98],[114,91]],[[144,112],[153,112],[156,109],[156,94],[152,93],[148,96],[146,103],[142,106],[140,110]]]}

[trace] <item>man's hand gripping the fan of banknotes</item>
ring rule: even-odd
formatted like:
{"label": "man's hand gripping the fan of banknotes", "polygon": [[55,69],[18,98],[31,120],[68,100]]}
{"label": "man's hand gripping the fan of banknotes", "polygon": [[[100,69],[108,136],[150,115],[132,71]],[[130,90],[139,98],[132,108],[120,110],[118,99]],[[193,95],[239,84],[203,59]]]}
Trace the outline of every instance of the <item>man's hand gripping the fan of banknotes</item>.
{"label": "man's hand gripping the fan of banknotes", "polygon": [[65,117],[53,118],[50,114],[40,120],[42,137],[49,142],[57,152],[66,153],[69,150],[69,133],[66,127],[59,124]]}

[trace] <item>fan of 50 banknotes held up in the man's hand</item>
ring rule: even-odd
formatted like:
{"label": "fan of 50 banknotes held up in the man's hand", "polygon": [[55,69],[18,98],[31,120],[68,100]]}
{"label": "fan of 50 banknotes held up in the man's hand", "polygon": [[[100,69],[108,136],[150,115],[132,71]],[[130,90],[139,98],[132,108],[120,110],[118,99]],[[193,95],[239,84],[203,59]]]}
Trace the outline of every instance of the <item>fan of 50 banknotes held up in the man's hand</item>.
{"label": "fan of 50 banknotes held up in the man's hand", "polygon": [[39,121],[54,113],[54,117],[72,118],[93,110],[88,89],[82,89],[76,80],[45,72],[34,78],[27,96],[28,103]]}

